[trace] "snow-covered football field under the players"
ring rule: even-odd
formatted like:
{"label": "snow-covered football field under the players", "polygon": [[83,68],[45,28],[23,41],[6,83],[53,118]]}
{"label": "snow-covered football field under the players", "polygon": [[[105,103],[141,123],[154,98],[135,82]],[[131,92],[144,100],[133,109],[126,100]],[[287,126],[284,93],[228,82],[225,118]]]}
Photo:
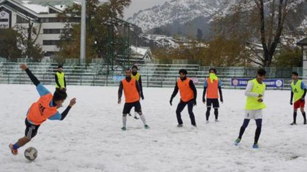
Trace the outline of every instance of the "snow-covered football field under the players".
{"label": "snow-covered football field under the players", "polygon": [[[144,88],[141,104],[151,128],[145,130],[140,120],[129,117],[125,132],[117,87],[68,86],[68,91],[68,99],[76,97],[77,104],[67,118],[43,123],[14,156],[8,144],[24,135],[25,113],[38,93],[31,85],[0,85],[0,172],[307,172],[307,125],[301,113],[299,124],[289,125],[289,91],[266,92],[258,150],[251,149],[254,121],[240,145],[233,146],[243,121],[244,90],[224,90],[220,122],[214,122],[211,111],[206,124],[203,90],[198,89],[198,127],[193,129],[187,109],[182,113],[185,127],[176,127],[179,94],[170,106],[173,88]],[[30,146],[38,149],[32,163],[23,156]]]}

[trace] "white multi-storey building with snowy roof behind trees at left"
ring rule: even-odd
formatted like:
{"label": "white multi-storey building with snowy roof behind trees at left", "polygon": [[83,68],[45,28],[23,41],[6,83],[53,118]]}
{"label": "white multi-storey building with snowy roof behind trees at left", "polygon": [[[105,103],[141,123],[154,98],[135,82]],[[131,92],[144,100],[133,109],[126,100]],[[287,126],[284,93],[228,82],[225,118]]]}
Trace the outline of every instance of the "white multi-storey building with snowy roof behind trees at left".
{"label": "white multi-storey building with snowy roof behind trees at left", "polygon": [[[58,20],[57,14],[61,13],[65,5],[31,4],[22,0],[0,0],[0,28],[28,28],[29,20],[33,22],[32,38],[42,47],[44,57],[50,57],[58,52],[57,44],[60,34],[64,31],[65,23]],[[79,22],[80,18],[69,18],[70,22]],[[25,29],[26,30],[26,29]]]}

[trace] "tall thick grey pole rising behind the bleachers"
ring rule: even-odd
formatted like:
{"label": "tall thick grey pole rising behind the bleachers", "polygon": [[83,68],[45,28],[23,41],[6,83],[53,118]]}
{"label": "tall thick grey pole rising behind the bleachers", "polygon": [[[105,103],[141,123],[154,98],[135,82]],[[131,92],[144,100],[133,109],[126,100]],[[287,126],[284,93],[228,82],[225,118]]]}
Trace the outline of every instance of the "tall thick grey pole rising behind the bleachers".
{"label": "tall thick grey pole rising behind the bleachers", "polygon": [[85,64],[86,54],[86,0],[81,3],[81,39],[80,39],[80,64]]}

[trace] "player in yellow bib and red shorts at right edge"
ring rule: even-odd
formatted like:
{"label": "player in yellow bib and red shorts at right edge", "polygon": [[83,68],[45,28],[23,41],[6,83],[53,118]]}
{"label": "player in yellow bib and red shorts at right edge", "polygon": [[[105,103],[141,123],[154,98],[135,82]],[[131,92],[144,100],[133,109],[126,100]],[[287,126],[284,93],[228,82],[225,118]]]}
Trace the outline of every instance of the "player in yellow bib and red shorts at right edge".
{"label": "player in yellow bib and red shorts at right edge", "polygon": [[290,104],[292,105],[293,96],[294,96],[294,112],[293,112],[293,122],[290,125],[296,125],[296,116],[297,109],[300,108],[303,118],[304,124],[306,124],[306,113],[304,111],[305,107],[305,96],[306,96],[306,86],[302,80],[298,79],[298,73],[292,72],[292,83],[291,83],[291,99]]}

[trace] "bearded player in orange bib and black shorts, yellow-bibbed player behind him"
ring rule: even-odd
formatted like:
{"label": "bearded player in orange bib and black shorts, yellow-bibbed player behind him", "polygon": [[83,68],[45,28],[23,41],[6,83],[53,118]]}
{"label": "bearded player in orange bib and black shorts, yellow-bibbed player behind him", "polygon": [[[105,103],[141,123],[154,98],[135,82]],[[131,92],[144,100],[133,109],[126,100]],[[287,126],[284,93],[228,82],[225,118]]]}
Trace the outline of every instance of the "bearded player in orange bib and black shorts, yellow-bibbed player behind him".
{"label": "bearded player in orange bib and black shorts, yellow-bibbed player behind him", "polygon": [[127,121],[127,115],[130,113],[131,109],[134,107],[135,111],[140,116],[140,119],[142,120],[145,129],[149,129],[149,126],[146,124],[145,117],[142,113],[141,109],[141,103],[140,103],[140,86],[138,85],[138,82],[131,78],[131,69],[126,69],[126,78],[123,79],[118,88],[118,104],[121,103],[121,96],[125,94],[125,105],[123,109],[123,127],[121,128],[123,131],[127,130],[126,128],[126,121]]}

